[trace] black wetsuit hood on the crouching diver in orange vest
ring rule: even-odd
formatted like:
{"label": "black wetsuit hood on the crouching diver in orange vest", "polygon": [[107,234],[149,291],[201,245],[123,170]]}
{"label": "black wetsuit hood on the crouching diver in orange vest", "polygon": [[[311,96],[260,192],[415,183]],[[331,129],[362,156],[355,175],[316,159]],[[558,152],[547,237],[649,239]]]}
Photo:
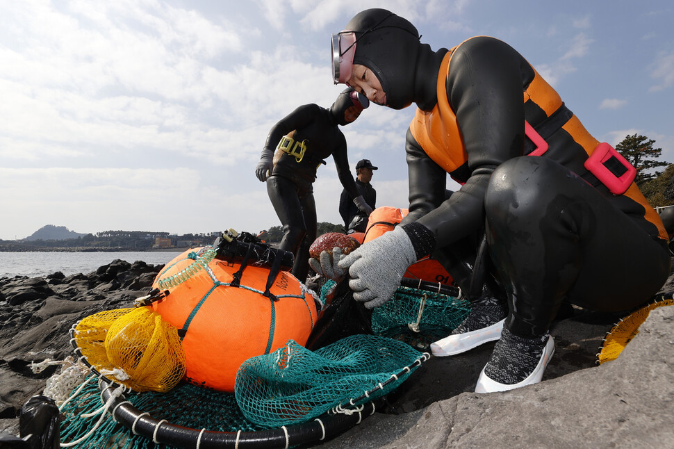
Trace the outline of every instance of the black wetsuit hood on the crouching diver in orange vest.
{"label": "black wetsuit hood on the crouching diver in orange vest", "polygon": [[432,51],[407,19],[389,10],[372,8],[356,14],[345,27],[356,34],[354,64],[364,65],[377,76],[386,92],[389,108],[412,103],[424,110],[436,103],[438,70],[447,49]]}

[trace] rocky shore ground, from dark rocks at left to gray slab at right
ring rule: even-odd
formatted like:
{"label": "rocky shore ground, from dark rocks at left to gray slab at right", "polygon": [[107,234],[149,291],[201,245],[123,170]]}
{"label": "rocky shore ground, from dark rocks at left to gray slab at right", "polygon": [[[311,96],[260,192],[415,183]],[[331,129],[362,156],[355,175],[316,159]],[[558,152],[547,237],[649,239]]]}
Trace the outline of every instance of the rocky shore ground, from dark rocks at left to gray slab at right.
{"label": "rocky shore ground, from dark rocks at left to gray slab at right", "polygon": [[[24,402],[72,355],[69,328],[101,311],[131,307],[162,266],[116,260],[95,272],[0,278],[0,432],[18,434]],[[670,277],[662,292],[674,290]],[[619,314],[568,308],[554,322],[556,352],[543,382],[472,393],[493,343],[432,357],[375,413],[325,448],[674,447],[674,307],[650,314],[616,361],[595,366]]]}

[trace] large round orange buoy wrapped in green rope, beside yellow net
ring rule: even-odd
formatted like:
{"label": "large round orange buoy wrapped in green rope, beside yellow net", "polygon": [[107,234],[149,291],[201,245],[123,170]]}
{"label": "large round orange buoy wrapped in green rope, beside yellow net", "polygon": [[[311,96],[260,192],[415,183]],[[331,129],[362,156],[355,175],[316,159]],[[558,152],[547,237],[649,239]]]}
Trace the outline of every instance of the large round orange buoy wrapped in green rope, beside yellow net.
{"label": "large round orange buoy wrapped in green rope, beside yellow net", "polygon": [[[167,263],[154,279],[158,282],[195,263],[199,248],[183,252]],[[289,272],[280,271],[265,293],[270,270],[221,259],[179,284],[152,307],[179,329],[186,356],[188,382],[220,391],[234,391],[241,364],[250,357],[269,354],[293,339],[306,343],[316,320],[313,297]]]}

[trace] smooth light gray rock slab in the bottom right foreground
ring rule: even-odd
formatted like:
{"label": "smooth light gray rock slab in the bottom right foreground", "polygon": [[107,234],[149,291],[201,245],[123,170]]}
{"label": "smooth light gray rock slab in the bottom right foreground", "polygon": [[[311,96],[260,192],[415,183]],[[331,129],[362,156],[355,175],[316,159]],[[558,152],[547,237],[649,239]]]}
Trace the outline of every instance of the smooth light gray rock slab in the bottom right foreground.
{"label": "smooth light gray rock slab in the bottom right foreground", "polygon": [[504,393],[375,414],[320,447],[673,448],[673,329],[674,307],[655,309],[614,361]]}

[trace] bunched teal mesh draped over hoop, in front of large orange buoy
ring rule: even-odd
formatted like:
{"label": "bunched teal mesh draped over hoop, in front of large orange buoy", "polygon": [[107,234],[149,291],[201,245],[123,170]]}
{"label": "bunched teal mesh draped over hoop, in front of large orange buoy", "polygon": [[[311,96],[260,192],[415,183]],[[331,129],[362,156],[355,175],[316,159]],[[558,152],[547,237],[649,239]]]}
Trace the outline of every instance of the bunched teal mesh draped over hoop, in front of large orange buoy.
{"label": "bunched teal mesh draped over hoop, in front of large orange buoy", "polygon": [[291,340],[272,354],[245,361],[234,395],[253,423],[302,423],[379,398],[427,357],[405,343],[372,335],[350,336],[315,351]]}

